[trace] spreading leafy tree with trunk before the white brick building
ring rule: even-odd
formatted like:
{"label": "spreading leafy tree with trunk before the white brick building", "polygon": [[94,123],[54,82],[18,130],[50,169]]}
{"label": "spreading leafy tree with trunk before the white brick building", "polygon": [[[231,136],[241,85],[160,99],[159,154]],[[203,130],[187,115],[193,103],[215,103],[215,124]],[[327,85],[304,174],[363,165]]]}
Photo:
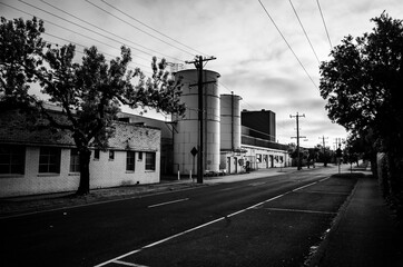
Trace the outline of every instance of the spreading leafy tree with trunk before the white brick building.
{"label": "spreading leafy tree with trunk before the white brick building", "polygon": [[[87,194],[90,147],[107,147],[119,107],[184,113],[185,105],[179,102],[181,81],[171,79],[165,70],[165,59],[158,62],[153,58],[153,77],[147,78],[139,68],[129,69],[131,53],[126,47],[121,47],[120,57],[109,62],[96,47],[86,48],[82,59],[77,60],[73,44],[52,46],[41,38],[43,32],[43,22],[36,18],[1,18],[0,105],[35,106],[49,126],[72,136],[80,152],[79,192]],[[61,107],[65,119],[56,118],[31,93],[33,85],[39,85],[49,101]]]}

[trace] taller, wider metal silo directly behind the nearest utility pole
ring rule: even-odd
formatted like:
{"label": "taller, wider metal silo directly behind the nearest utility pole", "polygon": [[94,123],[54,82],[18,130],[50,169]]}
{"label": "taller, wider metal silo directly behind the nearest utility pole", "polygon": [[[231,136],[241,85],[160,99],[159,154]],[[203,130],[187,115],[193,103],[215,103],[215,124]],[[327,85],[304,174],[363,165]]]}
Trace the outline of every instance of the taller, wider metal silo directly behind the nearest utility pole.
{"label": "taller, wider metal silo directly behind the nearest utility pole", "polygon": [[[193,148],[198,149],[199,123],[198,123],[198,70],[180,70],[175,77],[183,78],[181,102],[186,103],[184,117],[176,118],[174,130],[174,169],[180,174],[197,174],[197,156],[193,156]],[[203,121],[204,121],[204,170],[219,170],[219,73],[210,70],[203,71]]]}

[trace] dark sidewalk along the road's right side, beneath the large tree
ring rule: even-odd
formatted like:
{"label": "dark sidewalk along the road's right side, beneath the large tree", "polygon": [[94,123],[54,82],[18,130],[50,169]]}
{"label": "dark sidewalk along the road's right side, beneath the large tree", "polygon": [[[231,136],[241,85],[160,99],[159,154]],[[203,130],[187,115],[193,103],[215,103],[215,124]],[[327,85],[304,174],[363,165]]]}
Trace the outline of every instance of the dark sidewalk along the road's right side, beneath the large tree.
{"label": "dark sidewalk along the road's right side, beneath the large tree", "polygon": [[309,266],[403,266],[403,230],[365,171]]}

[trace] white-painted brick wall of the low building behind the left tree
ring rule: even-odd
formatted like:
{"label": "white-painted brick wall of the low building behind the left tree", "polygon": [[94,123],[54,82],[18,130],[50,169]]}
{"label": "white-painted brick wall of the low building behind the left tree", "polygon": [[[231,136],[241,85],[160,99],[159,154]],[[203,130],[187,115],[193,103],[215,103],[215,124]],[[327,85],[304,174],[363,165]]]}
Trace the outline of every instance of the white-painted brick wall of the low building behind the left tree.
{"label": "white-painted brick wall of the low building behind the left tree", "polygon": [[[160,130],[150,128],[124,127],[125,144],[129,139],[127,149],[135,151],[135,171],[126,170],[125,150],[117,149],[115,159],[109,160],[109,151],[100,151],[99,160],[90,161],[90,188],[107,188],[136,184],[159,182],[160,174]],[[122,135],[120,135],[121,137]],[[114,140],[118,144],[117,140]],[[120,145],[121,146],[121,145]],[[26,147],[24,175],[0,175],[0,197],[26,196],[37,194],[75,191],[78,189],[80,175],[70,172],[70,149],[62,148],[60,155],[60,174],[39,174],[40,147]],[[139,151],[142,151],[142,160],[139,160]],[[146,151],[156,154],[155,170],[146,170]]]}

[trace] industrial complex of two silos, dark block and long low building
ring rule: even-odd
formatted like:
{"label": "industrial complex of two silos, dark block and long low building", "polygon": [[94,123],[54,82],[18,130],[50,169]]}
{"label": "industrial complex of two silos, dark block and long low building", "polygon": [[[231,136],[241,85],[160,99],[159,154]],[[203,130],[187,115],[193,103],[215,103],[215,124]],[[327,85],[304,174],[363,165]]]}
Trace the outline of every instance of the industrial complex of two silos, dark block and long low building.
{"label": "industrial complex of two silos, dark block and long low building", "polygon": [[[200,138],[198,121],[198,71],[180,70],[184,116],[165,122],[130,113],[119,113],[125,121],[161,129],[161,174],[197,175],[196,151]],[[291,165],[288,146],[277,144],[275,113],[271,110],[240,111],[240,96],[218,93],[219,73],[203,73],[204,175],[239,174],[252,169]]]}

